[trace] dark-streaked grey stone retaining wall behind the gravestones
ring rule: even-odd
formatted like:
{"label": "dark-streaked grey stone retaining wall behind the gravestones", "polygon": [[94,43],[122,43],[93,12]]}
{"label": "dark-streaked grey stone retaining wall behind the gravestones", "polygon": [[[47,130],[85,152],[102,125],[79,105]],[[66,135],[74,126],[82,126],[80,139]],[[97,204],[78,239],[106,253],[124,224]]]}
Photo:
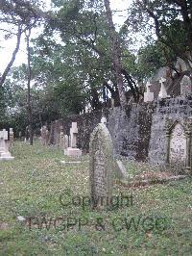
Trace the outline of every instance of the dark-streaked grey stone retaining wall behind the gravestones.
{"label": "dark-streaked grey stone retaining wall behind the gravestones", "polygon": [[107,117],[114,154],[136,161],[162,164],[165,161],[165,119],[192,116],[192,98],[176,97],[154,103],[132,104],[125,111],[120,107],[84,115],[69,115],[51,125],[50,143],[57,144],[60,125],[69,135],[72,122],[78,124],[78,147],[89,150],[89,138],[102,115]]}

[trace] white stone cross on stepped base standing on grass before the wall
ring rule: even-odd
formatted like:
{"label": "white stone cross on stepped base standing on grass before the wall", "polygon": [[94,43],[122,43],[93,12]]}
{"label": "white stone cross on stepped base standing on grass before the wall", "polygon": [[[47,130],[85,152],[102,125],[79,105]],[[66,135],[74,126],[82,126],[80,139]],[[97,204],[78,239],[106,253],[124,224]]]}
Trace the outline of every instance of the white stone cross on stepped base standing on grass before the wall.
{"label": "white stone cross on stepped base standing on grass before the wall", "polygon": [[82,155],[82,150],[77,148],[77,135],[77,122],[72,122],[72,127],[70,128],[70,146],[64,150],[64,155],[72,157],[80,157]]}

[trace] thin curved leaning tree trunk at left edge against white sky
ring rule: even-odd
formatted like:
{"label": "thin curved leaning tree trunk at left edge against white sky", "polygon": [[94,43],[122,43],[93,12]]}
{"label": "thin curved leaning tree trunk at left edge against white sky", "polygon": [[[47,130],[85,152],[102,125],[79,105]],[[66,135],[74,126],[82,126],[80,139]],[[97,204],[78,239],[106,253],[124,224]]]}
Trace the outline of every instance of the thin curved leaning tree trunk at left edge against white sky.
{"label": "thin curved leaning tree trunk at left edge against white sky", "polygon": [[11,67],[12,67],[12,64],[13,64],[14,60],[15,60],[16,54],[19,50],[21,34],[22,34],[21,25],[18,25],[16,47],[12,52],[12,59],[11,59],[10,63],[6,66],[6,69],[4,70],[2,76],[0,77],[0,88],[3,86],[3,84],[6,80],[6,77],[7,77],[8,73],[9,73]]}

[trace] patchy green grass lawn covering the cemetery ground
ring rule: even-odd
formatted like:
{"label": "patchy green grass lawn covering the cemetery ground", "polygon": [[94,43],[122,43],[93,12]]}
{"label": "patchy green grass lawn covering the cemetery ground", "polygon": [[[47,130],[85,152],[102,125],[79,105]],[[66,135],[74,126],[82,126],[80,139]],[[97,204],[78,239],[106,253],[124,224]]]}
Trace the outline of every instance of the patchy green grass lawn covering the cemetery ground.
{"label": "patchy green grass lawn covering the cemetery ground", "polygon": [[0,162],[0,255],[191,255],[191,179],[115,185],[114,194],[132,194],[132,206],[92,211],[82,205],[88,156],[61,165],[61,150],[37,141],[15,142],[12,155],[14,161]]}

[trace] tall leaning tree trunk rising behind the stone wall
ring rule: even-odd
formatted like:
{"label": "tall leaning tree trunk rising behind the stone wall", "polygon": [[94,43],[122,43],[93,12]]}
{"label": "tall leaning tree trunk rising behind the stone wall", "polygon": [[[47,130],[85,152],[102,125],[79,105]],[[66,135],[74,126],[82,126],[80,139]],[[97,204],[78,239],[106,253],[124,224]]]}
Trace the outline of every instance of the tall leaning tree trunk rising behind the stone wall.
{"label": "tall leaning tree trunk rising behind the stone wall", "polygon": [[112,21],[112,13],[110,10],[110,4],[109,0],[104,0],[104,4],[106,7],[107,17],[108,17],[108,28],[109,28],[109,34],[111,39],[111,47],[112,47],[112,62],[113,67],[116,75],[118,90],[119,90],[119,98],[120,98],[120,104],[122,108],[126,107],[127,101],[126,101],[126,95],[124,91],[123,86],[123,76],[121,73],[121,50],[120,50],[120,43],[117,38],[117,33],[115,31],[115,27]]}

